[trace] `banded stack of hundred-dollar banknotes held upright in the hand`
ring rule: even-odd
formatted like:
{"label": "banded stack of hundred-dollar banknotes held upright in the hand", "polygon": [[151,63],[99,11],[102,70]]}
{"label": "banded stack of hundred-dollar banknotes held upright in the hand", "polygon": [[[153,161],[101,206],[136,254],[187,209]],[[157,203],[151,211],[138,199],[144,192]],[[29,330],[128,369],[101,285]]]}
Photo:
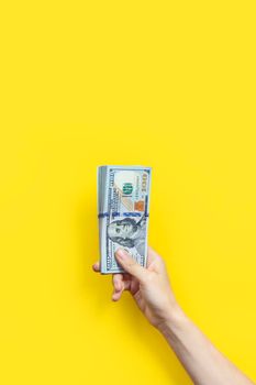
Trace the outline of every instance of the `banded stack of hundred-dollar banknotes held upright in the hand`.
{"label": "banded stack of hundred-dollar banknotes held upright in the hand", "polygon": [[101,274],[124,272],[114,257],[119,248],[146,266],[151,176],[151,167],[98,167]]}

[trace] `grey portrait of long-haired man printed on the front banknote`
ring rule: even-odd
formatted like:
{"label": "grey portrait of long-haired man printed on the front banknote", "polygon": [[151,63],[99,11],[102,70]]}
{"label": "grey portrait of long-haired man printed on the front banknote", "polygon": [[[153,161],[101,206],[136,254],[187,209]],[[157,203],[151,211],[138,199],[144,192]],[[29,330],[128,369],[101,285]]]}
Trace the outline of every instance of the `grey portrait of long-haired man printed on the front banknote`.
{"label": "grey portrait of long-haired man printed on the front banknote", "polygon": [[146,218],[142,217],[138,222],[132,218],[113,221],[108,226],[108,237],[112,242],[130,249],[135,248],[140,255],[144,255]]}

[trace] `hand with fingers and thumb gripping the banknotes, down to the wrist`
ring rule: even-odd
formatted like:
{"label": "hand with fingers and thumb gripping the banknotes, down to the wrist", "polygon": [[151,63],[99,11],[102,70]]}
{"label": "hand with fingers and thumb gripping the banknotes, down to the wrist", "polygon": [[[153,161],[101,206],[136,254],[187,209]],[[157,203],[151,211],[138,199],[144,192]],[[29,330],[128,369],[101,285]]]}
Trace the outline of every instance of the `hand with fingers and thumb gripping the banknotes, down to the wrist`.
{"label": "hand with fingers and thumb gripping the banknotes, down to the wrist", "polygon": [[[142,267],[123,249],[115,253],[124,274],[113,274],[112,300],[118,301],[124,290],[129,290],[147,320],[156,328],[171,319],[179,309],[170,287],[168,274],[163,258],[148,248],[147,268]],[[99,262],[92,266],[99,272]]]}

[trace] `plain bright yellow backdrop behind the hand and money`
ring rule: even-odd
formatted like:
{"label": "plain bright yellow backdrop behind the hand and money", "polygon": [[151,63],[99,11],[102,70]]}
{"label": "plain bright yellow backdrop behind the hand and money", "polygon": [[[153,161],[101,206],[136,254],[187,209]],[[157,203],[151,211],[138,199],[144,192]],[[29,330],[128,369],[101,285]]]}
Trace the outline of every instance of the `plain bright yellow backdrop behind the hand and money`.
{"label": "plain bright yellow backdrop behind the hand and money", "polygon": [[5,1],[0,383],[191,384],[98,258],[96,168],[153,167],[149,243],[256,380],[254,1]]}

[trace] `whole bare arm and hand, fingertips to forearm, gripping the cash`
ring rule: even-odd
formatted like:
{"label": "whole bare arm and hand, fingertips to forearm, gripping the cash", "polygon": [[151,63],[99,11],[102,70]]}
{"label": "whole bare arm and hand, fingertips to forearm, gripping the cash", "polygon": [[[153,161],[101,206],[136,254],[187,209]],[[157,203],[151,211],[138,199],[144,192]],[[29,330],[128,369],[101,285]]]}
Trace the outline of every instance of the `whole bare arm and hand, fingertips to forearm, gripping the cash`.
{"label": "whole bare arm and hand, fingertips to forearm, gripping the cash", "polygon": [[[136,305],[167,340],[196,385],[254,384],[232,364],[185,315],[177,302],[164,260],[148,248],[147,267],[140,266],[123,249],[115,257],[125,270],[114,274],[112,300],[129,290]],[[100,271],[99,262],[92,265]]]}

